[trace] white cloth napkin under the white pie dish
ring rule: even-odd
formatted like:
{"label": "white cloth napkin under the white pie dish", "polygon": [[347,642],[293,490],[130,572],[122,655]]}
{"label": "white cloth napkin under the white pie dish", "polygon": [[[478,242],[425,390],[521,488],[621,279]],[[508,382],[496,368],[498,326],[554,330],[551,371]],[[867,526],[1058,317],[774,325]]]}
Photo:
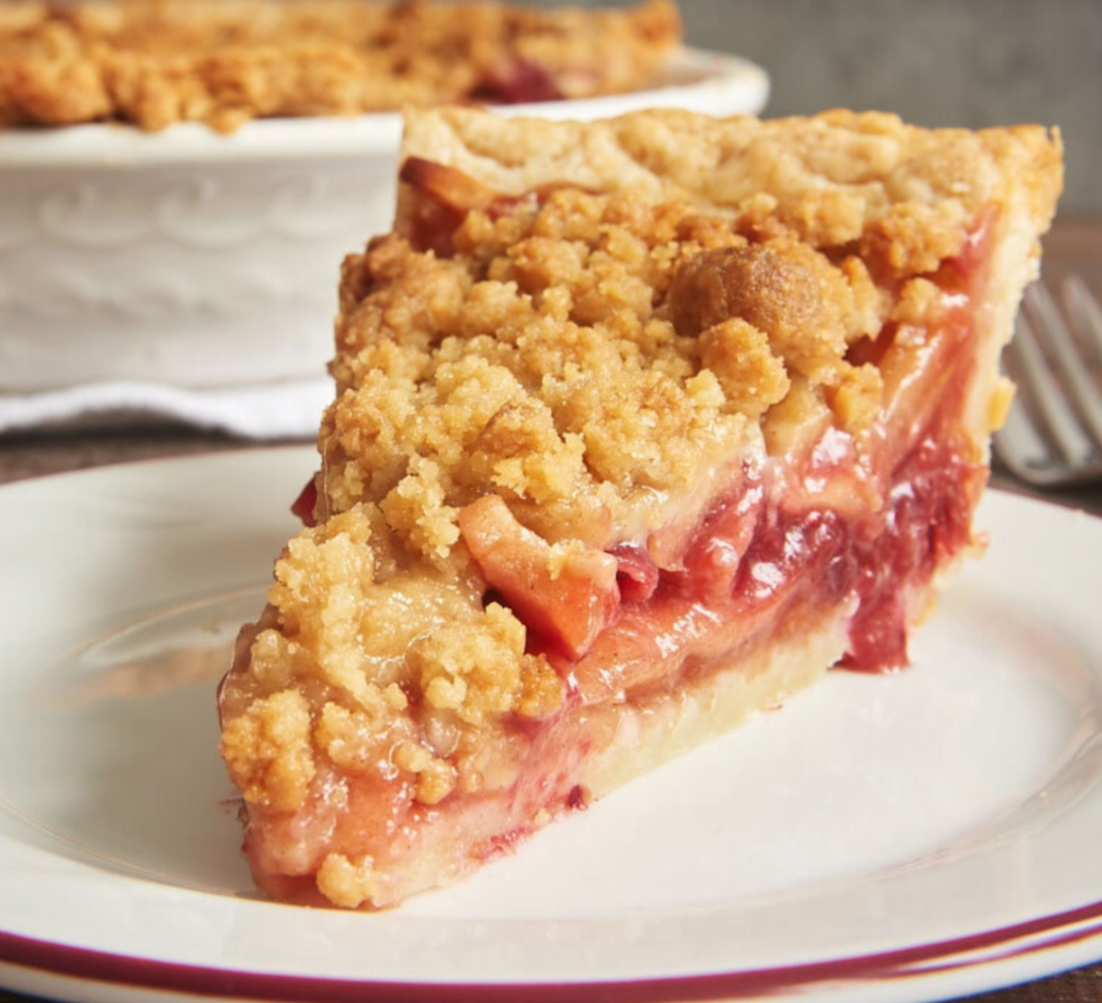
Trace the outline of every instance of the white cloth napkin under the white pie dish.
{"label": "white cloth napkin under the white pie dish", "polygon": [[204,390],[89,384],[41,393],[0,393],[0,433],[172,422],[247,439],[313,438],[332,400],[328,377]]}

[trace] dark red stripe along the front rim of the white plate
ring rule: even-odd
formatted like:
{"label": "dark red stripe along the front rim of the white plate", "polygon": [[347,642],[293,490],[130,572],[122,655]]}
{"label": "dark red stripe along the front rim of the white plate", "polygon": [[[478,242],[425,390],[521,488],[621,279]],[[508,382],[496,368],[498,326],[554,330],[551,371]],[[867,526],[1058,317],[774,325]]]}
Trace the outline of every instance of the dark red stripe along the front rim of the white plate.
{"label": "dark red stripe along the front rim of the white plate", "polygon": [[[1050,935],[1040,937],[1040,935]],[[1023,957],[1102,936],[1102,902],[949,940],[777,968],[607,982],[383,982],[282,975],[134,958],[0,931],[0,961],[94,982],[292,1003],[670,1003],[775,995],[815,983],[931,975]],[[1034,938],[1034,939],[1027,939]],[[1024,943],[1014,941],[1025,940]],[[1000,950],[994,953],[992,949]],[[976,952],[986,951],[980,957]],[[1102,957],[1102,945],[1100,945]]]}

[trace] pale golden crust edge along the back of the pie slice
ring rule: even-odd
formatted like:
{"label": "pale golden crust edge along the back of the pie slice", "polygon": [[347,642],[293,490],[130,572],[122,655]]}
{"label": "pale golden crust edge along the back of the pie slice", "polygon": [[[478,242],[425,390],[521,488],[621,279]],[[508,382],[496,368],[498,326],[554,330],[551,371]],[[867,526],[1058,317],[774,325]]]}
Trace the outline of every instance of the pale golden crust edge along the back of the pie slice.
{"label": "pale golden crust edge along the back of the pie slice", "polygon": [[911,273],[954,254],[991,206],[1024,214],[1044,233],[1063,182],[1056,129],[930,130],[877,111],[717,120],[656,110],[592,123],[413,111],[402,157],[456,168],[506,195],[569,180],[651,202],[767,215],[813,247],[875,248]]}

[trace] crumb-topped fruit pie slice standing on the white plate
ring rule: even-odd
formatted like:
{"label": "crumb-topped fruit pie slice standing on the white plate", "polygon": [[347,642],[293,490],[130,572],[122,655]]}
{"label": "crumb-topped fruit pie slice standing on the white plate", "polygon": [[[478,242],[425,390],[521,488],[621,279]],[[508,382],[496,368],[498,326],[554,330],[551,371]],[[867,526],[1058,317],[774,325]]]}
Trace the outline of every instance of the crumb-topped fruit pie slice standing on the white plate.
{"label": "crumb-topped fruit pie slice standing on the white plate", "polygon": [[382,907],[907,662],[982,541],[1059,138],[412,114],[307,528],[220,691],[256,881]]}

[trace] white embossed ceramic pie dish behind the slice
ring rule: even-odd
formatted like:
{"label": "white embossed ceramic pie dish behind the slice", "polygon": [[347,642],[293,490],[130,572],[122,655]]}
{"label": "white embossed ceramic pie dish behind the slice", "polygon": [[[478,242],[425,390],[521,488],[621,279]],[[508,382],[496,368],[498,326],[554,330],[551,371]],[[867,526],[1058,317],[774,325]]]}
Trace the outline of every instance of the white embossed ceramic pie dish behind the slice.
{"label": "white embossed ceramic pie dish behind the slice", "polygon": [[[765,72],[690,50],[658,86],[505,114],[756,114]],[[342,257],[389,227],[397,114],[0,131],[0,393],[322,371]]]}

